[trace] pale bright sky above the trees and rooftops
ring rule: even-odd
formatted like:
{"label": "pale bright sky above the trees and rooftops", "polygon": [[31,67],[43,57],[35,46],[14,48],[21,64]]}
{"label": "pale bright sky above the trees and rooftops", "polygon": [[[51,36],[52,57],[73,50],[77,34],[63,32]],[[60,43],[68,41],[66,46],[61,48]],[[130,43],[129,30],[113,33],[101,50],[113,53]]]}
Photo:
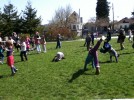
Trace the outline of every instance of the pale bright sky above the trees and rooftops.
{"label": "pale bright sky above the trees and rooftops", "polygon": [[[28,0],[0,0],[0,8],[11,2],[19,12],[25,9]],[[96,16],[97,0],[30,0],[32,7],[37,10],[37,16],[41,16],[42,24],[47,24],[55,14],[55,10],[59,7],[65,8],[71,5],[72,11],[78,12],[80,9],[83,22],[87,22],[91,17]],[[107,0],[114,5],[115,20],[120,20],[124,17],[131,17],[131,12],[134,11],[134,0]],[[110,19],[112,20],[112,9],[110,9]]]}

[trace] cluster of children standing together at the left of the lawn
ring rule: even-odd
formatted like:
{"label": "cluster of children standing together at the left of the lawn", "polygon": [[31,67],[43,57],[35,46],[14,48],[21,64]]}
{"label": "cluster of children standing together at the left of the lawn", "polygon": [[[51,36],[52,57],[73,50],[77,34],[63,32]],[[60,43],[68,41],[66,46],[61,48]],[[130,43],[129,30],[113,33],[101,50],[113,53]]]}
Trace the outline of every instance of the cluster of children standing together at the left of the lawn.
{"label": "cluster of children standing together at the left of the lawn", "polygon": [[[32,45],[32,47],[30,47]],[[42,49],[40,47],[42,45]],[[7,57],[7,65],[11,68],[11,75],[14,75],[18,69],[14,66],[14,49],[20,51],[20,59],[21,61],[28,60],[28,54],[30,50],[37,50],[37,53],[41,53],[43,51],[46,53],[46,40],[45,36],[40,36],[38,32],[36,32],[35,36],[30,38],[29,36],[21,36],[17,35],[13,32],[13,36],[8,38],[0,39],[0,63],[4,63],[4,51],[6,52]],[[25,59],[24,59],[25,58]]]}

